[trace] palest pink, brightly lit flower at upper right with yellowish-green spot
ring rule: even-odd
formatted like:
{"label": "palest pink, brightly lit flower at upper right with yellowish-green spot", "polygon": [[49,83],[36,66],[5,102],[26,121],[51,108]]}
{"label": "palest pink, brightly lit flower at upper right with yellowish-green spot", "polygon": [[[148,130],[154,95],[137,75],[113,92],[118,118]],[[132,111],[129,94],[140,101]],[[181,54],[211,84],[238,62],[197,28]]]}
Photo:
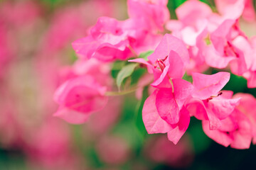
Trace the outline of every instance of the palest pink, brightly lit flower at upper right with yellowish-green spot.
{"label": "palest pink, brightly lit flower at upper right with yellowish-green spot", "polygon": [[[233,42],[238,36],[246,37],[238,27],[244,6],[243,0],[235,1],[219,15],[207,4],[191,0],[176,9],[178,21],[169,21],[166,28],[189,45],[191,64],[188,74],[207,69],[206,64],[218,69],[230,65],[232,72],[238,75],[247,71],[245,54]],[[236,11],[235,15],[233,11]]]}

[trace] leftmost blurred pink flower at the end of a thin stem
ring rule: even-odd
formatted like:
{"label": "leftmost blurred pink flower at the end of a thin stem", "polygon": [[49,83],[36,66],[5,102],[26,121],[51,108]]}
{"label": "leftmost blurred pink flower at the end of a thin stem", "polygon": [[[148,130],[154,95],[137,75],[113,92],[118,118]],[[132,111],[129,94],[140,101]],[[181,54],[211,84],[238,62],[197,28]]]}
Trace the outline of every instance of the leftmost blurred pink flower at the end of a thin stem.
{"label": "leftmost blurred pink flower at the end of a thin stem", "polygon": [[68,110],[91,113],[100,111],[107,104],[106,90],[92,76],[86,75],[66,81],[56,90],[54,99]]}

